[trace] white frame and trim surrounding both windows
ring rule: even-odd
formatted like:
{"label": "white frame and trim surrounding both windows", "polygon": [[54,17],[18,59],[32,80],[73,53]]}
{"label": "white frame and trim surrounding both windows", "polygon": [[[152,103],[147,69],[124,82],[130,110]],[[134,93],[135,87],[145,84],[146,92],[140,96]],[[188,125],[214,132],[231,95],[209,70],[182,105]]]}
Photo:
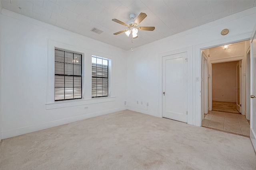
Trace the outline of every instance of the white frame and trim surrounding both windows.
{"label": "white frame and trim surrounding both windows", "polygon": [[[79,44],[79,46],[81,46]],[[56,109],[62,107],[82,106],[88,104],[96,104],[102,102],[115,101],[115,87],[114,87],[114,57],[96,51],[90,51],[84,47],[70,45],[48,39],[48,77],[46,76],[46,109]],[[55,48],[68,51],[74,51],[82,54],[82,99],[54,101],[54,77],[55,77]],[[108,97],[92,98],[92,55],[102,56],[103,58],[110,59],[108,70]]]}

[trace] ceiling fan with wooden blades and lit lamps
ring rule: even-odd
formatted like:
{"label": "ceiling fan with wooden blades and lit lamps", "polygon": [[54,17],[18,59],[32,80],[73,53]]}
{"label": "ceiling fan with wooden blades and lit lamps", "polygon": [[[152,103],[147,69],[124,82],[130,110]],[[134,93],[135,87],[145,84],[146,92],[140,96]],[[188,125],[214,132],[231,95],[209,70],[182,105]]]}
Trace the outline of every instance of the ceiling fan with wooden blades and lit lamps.
{"label": "ceiling fan with wooden blades and lit lamps", "polygon": [[128,23],[124,23],[120,20],[117,19],[112,19],[112,21],[120,23],[121,25],[124,25],[126,27],[128,27],[128,29],[124,29],[122,31],[118,31],[116,33],[114,33],[114,35],[118,35],[120,33],[125,32],[125,34],[127,35],[127,37],[129,37],[130,33],[132,33],[132,37],[133,38],[138,38],[138,30],[143,30],[143,31],[153,31],[155,29],[155,27],[137,27],[141,21],[143,21],[146,17],[147,14],[141,12],[140,15],[136,18],[136,20],[134,21],[135,14],[129,14],[129,18],[131,19]]}

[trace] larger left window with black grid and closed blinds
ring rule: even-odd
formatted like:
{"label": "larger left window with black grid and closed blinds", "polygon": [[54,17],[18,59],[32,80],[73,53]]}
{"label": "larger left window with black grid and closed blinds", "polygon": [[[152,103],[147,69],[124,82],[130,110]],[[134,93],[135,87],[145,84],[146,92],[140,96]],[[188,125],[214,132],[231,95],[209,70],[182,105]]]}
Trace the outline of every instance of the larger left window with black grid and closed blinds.
{"label": "larger left window with black grid and closed blinds", "polygon": [[54,100],[82,98],[82,55],[55,49]]}

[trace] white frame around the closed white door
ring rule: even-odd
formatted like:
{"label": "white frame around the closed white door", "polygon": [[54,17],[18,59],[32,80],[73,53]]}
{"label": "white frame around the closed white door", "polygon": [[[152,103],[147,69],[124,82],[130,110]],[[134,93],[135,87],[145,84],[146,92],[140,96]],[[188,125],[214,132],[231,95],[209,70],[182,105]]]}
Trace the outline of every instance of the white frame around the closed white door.
{"label": "white frame around the closed white door", "polygon": [[[163,107],[163,101],[162,101],[162,95],[163,95],[163,85],[162,85],[162,61],[163,57],[168,56],[168,55],[174,55],[178,53],[187,53],[187,69],[192,70],[193,68],[193,61],[192,61],[192,52],[193,48],[192,46],[182,48],[182,49],[176,49],[174,51],[169,51],[165,53],[159,54],[159,95],[158,95],[158,106],[159,106],[159,114],[158,117],[162,117],[162,107]],[[187,72],[187,109],[188,109],[188,124],[193,125],[194,124],[194,117],[193,117],[193,72]]]}

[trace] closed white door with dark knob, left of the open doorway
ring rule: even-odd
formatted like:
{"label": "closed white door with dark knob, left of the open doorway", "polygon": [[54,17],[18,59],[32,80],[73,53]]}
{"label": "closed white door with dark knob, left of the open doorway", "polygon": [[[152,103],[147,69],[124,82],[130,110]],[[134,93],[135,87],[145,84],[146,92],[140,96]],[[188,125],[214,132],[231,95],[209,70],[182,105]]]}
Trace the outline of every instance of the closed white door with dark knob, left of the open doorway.
{"label": "closed white door with dark knob, left of the open doorway", "polygon": [[163,117],[187,123],[187,52],[162,60]]}

